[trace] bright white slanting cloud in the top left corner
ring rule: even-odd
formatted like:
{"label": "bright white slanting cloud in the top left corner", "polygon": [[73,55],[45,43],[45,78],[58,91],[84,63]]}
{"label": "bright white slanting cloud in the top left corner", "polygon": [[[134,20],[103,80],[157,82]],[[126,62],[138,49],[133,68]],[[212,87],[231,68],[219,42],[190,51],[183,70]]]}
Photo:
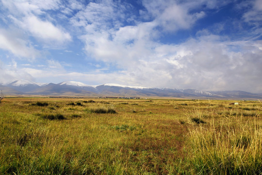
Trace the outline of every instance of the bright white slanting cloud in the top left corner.
{"label": "bright white slanting cloud in the top left corner", "polygon": [[13,21],[16,27],[40,40],[44,47],[58,47],[71,41],[71,35],[62,26],[55,25],[46,10],[57,10],[60,0],[2,0],[6,20]]}

